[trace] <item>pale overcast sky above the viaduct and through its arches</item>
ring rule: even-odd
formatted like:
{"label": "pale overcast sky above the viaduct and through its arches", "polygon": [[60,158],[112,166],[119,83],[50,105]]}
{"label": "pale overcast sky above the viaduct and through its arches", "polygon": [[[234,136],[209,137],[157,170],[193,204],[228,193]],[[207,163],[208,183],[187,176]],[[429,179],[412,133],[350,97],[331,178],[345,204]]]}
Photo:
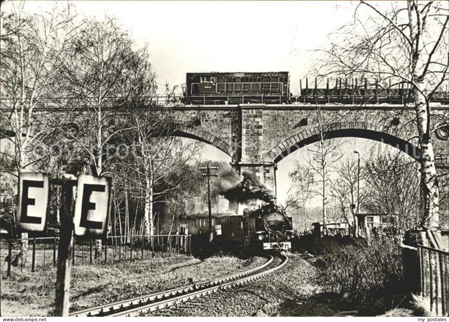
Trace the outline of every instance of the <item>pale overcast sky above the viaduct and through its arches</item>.
{"label": "pale overcast sky above the viaduct and through its arches", "polygon": [[[13,1],[9,1],[11,5]],[[311,76],[314,50],[329,44],[328,35],[352,21],[352,1],[72,1],[79,13],[114,15],[138,46],[148,47],[160,87],[185,83],[187,72],[289,71],[291,91]],[[26,10],[48,10],[53,1],[28,0]],[[387,2],[378,3],[382,6]],[[346,157],[354,158],[348,144]],[[361,150],[361,149],[360,149]],[[363,153],[363,150],[361,150]],[[277,196],[283,202],[290,187],[288,172],[306,149],[279,163]],[[230,161],[205,146],[203,158]],[[362,155],[363,156],[363,155]]]}

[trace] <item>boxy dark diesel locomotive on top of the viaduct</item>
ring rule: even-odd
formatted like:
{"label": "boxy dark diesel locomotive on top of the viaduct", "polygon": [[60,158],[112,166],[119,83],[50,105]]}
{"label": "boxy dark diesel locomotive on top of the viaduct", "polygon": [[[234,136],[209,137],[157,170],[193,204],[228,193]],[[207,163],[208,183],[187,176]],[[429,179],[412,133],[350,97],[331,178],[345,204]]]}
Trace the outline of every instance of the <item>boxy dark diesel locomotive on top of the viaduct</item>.
{"label": "boxy dark diesel locomotive on top of the viaduct", "polygon": [[287,71],[187,73],[184,88],[186,104],[285,103],[290,95]]}

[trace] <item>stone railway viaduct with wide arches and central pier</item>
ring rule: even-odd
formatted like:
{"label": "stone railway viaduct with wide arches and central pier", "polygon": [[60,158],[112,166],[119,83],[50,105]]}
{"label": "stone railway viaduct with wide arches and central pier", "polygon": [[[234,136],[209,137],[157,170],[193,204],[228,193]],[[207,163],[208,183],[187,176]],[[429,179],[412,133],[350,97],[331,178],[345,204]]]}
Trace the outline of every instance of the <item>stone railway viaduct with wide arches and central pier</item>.
{"label": "stone railway viaduct with wide arches and central pier", "polygon": [[[186,105],[151,109],[168,113],[174,135],[206,142],[225,152],[238,172],[251,171],[276,192],[277,163],[295,150],[325,138],[359,137],[395,146],[419,158],[413,107],[403,105],[311,104]],[[447,124],[449,106],[432,106],[432,127]],[[449,129],[435,136],[436,167],[449,171]],[[437,134],[438,134],[437,133]],[[447,190],[447,184],[440,187]],[[447,205],[442,205],[447,212]]]}

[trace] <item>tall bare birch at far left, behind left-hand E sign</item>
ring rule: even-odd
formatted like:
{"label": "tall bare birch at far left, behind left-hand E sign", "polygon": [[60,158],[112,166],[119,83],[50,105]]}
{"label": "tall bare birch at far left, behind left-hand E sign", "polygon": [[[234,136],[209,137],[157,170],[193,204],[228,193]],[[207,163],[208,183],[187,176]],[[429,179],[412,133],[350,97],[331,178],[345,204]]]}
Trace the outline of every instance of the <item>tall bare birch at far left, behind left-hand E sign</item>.
{"label": "tall bare birch at far left, behind left-hand E sign", "polygon": [[[60,106],[55,95],[57,75],[73,57],[70,42],[79,32],[70,4],[32,15],[25,13],[24,5],[11,4],[8,14],[2,10],[0,31],[1,153],[13,163],[7,172],[15,189],[21,172],[49,158],[49,153],[36,153],[36,149],[64,122],[64,115],[54,113]],[[42,107],[49,111],[37,111]],[[25,260],[27,238],[23,233]]]}

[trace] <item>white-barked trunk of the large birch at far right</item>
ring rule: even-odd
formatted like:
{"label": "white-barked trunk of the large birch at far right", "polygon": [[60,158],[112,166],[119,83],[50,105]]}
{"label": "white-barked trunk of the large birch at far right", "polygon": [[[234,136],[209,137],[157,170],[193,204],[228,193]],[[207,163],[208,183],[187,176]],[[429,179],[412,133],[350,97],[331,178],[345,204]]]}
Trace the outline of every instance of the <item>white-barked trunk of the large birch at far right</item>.
{"label": "white-barked trunk of the large birch at far right", "polygon": [[[430,115],[422,82],[417,82],[413,88],[416,111],[419,147],[421,149],[421,191],[423,202],[421,207],[421,225],[439,226],[439,190],[435,168],[435,154],[430,133]],[[421,92],[420,92],[421,91]]]}

